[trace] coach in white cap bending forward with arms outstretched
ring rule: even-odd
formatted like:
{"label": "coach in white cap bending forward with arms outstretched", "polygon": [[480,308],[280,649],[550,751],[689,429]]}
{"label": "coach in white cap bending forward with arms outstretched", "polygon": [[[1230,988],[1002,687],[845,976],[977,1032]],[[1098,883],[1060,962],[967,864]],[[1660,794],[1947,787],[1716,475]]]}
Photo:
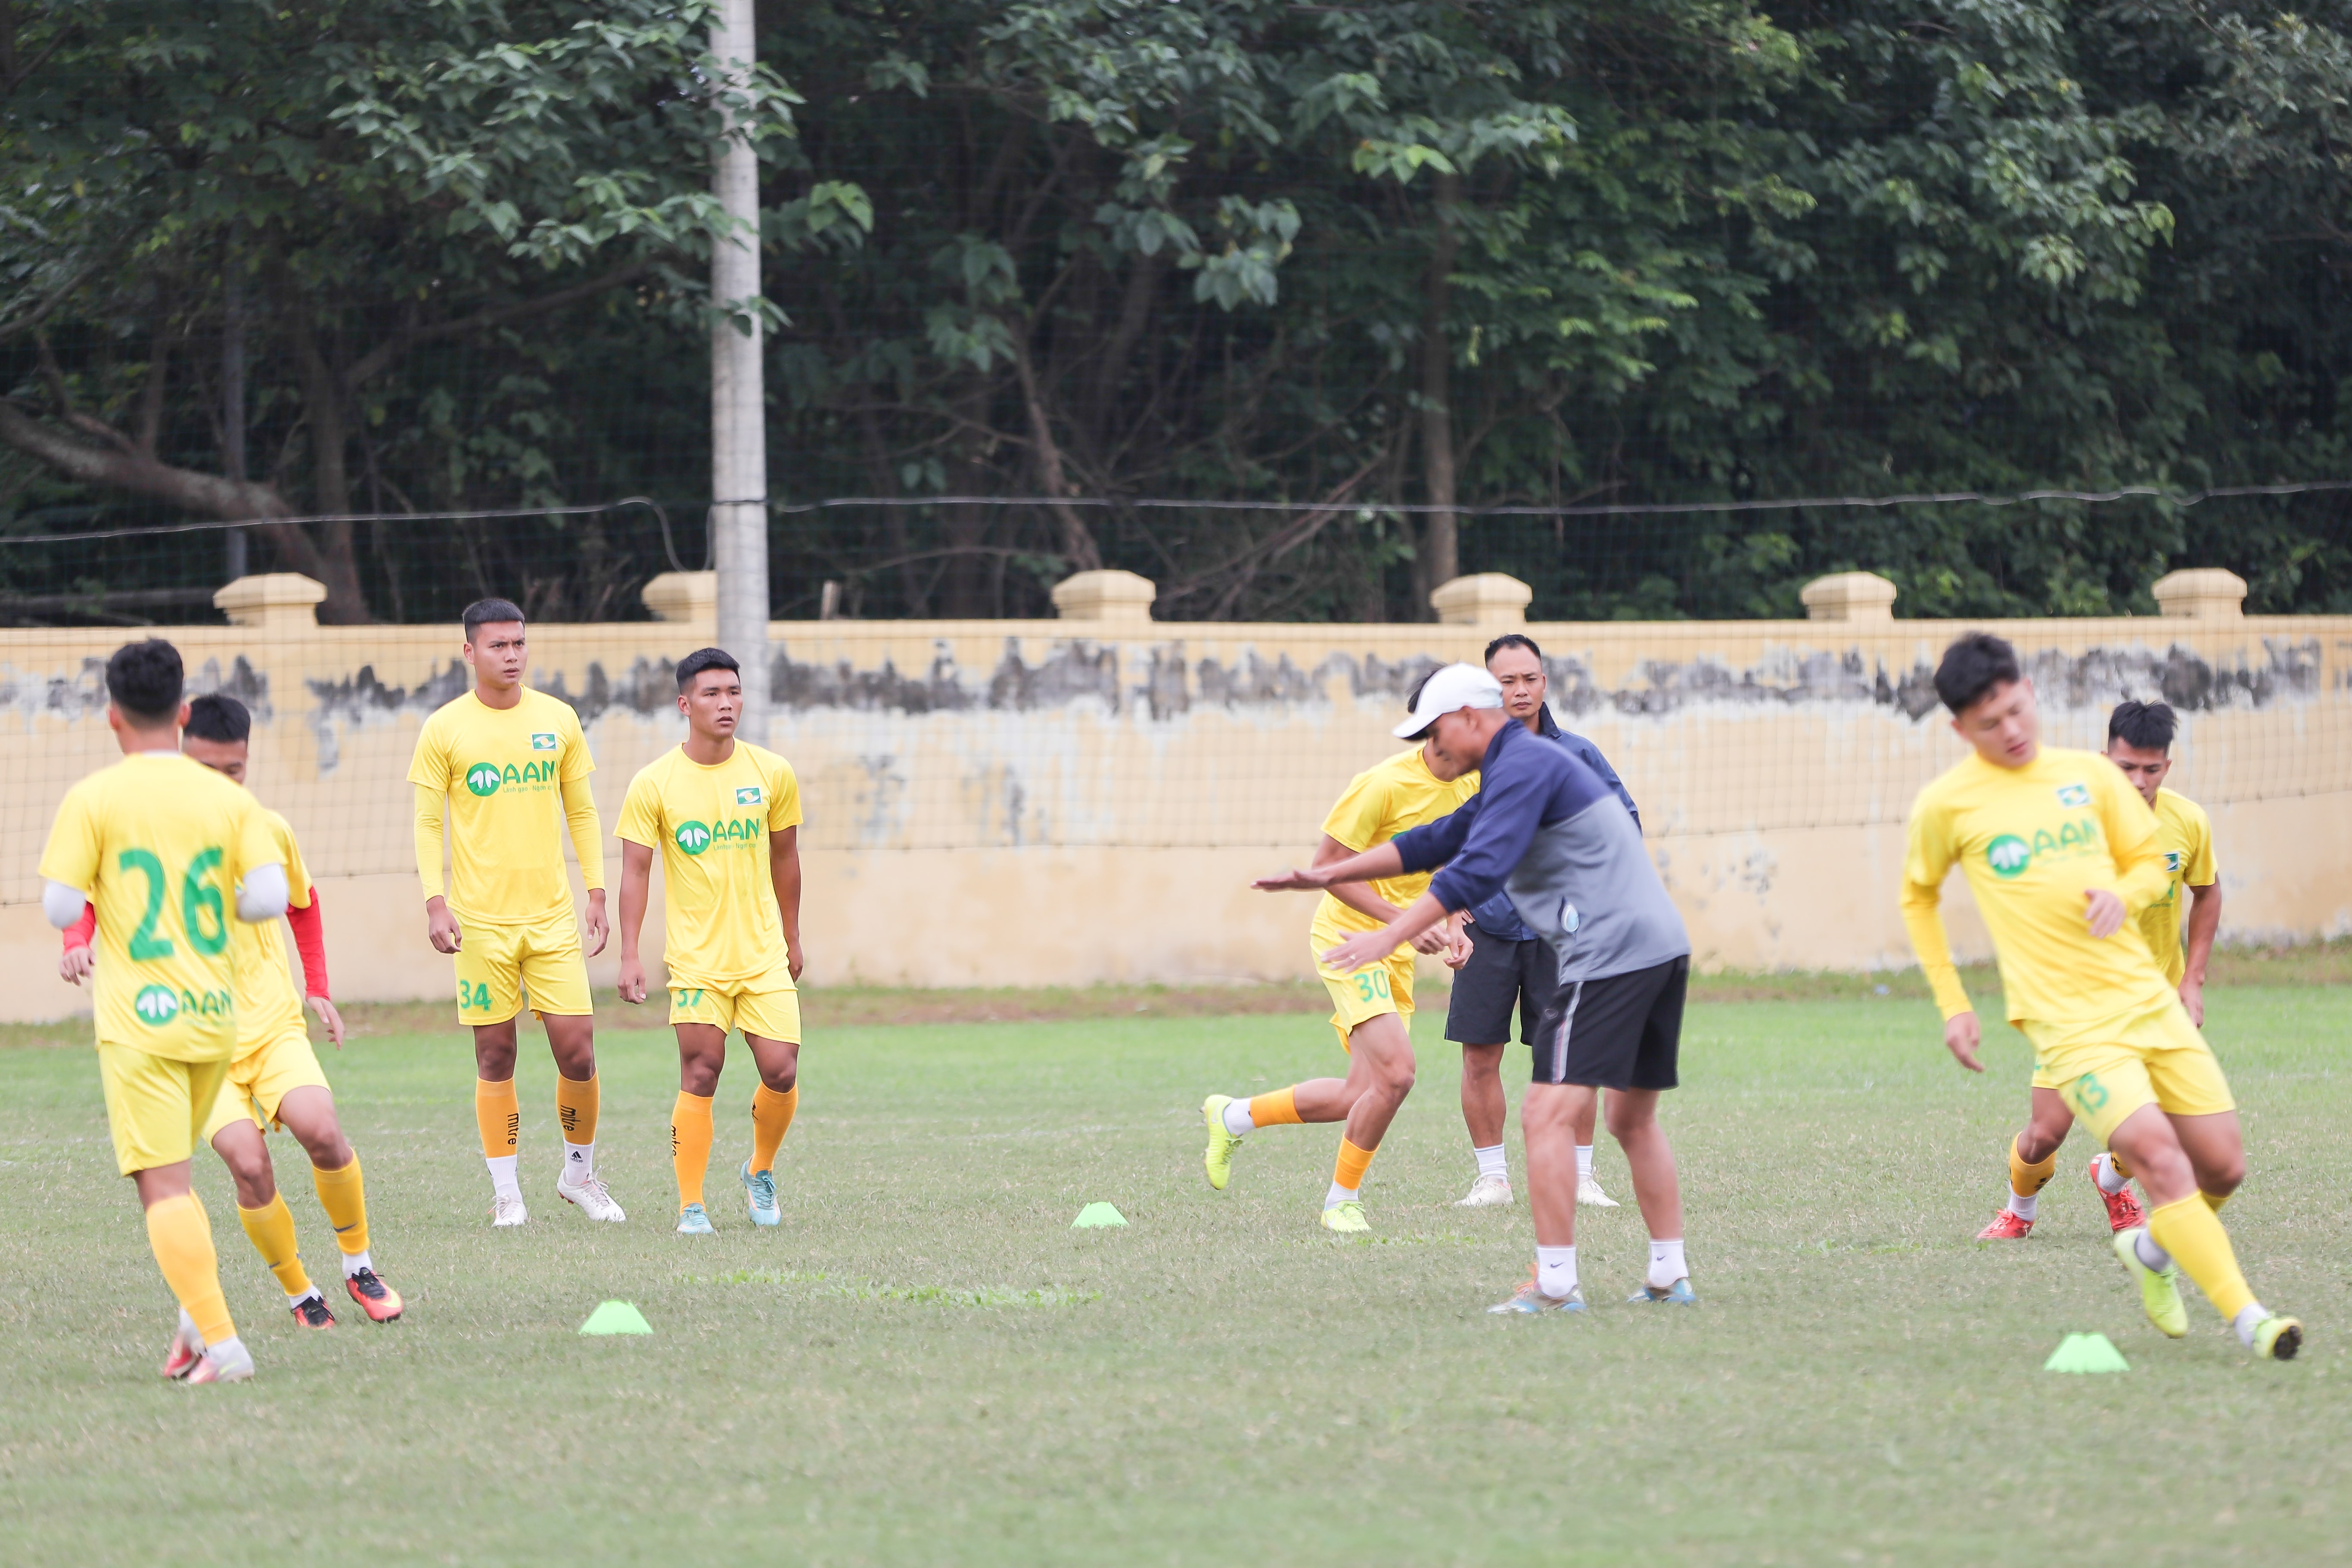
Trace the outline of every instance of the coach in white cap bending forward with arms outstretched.
{"label": "coach in white cap bending forward with arms outstretched", "polygon": [[[1682,1185],[1658,1126],[1658,1095],[1675,1088],[1691,938],[1665,896],[1616,795],[1559,745],[1503,712],[1503,689],[1477,665],[1446,665],[1421,691],[1402,731],[1425,733],[1456,769],[1477,769],[1479,792],[1451,816],[1261,889],[1331,886],[1359,877],[1439,870],[1428,891],[1378,931],[1350,936],[1324,964],[1352,969],[1510,889],[1512,910],[1559,957],[1536,1027],[1536,1081],[1519,1105],[1526,1201],[1536,1218],[1536,1269],[1489,1312],[1583,1312],[1576,1279],[1576,1133],[1609,1091],[1609,1135],[1625,1150],[1632,1194],[1649,1225],[1649,1272],[1637,1302],[1689,1305]],[[1573,940],[1571,940],[1573,938]]]}

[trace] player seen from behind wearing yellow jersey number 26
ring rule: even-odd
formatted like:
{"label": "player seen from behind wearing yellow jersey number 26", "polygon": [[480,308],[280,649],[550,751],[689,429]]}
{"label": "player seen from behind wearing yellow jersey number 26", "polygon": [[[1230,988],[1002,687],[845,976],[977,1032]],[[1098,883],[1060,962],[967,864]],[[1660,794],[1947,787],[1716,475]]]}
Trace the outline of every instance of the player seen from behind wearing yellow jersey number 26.
{"label": "player seen from behind wearing yellow jersey number 26", "polygon": [[87,905],[99,910],[106,1126],[179,1298],[162,1371],[238,1382],[254,1375],[254,1359],[228,1316],[188,1161],[238,1051],[230,922],[278,919],[287,870],[254,797],[179,755],[188,719],[179,649],[160,639],[118,649],[106,696],[122,762],[66,790],[40,853],[40,903],[59,931]]}

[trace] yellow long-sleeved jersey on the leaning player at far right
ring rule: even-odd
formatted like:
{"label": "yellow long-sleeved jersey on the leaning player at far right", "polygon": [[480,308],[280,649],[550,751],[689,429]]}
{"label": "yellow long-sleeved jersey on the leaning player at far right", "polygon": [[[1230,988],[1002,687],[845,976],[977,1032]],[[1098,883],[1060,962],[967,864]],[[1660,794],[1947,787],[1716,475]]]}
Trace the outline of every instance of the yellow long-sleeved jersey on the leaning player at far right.
{"label": "yellow long-sleeved jersey on the leaning player at far right", "polygon": [[[2157,818],[2098,752],[2042,748],[2023,769],[1969,755],[1919,790],[1903,919],[1945,1018],[1969,1009],[1936,914],[1952,865],[1992,933],[2011,1023],[2098,1025],[2171,999],[2133,919],[2164,893]],[[2091,889],[2124,900],[2110,938],[2091,936]]]}

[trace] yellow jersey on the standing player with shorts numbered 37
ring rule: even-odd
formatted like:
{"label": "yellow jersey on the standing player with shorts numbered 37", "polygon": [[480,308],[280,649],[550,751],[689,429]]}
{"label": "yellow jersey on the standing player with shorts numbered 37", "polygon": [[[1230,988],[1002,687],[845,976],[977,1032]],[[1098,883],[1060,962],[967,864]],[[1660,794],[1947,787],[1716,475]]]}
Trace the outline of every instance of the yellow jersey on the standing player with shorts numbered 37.
{"label": "yellow jersey on the standing player with shorts numbered 37", "polygon": [[800,827],[800,780],[776,752],[736,741],[703,766],[677,745],[628,780],[619,837],[661,851],[661,959],[670,985],[729,985],[786,961],[767,856]]}

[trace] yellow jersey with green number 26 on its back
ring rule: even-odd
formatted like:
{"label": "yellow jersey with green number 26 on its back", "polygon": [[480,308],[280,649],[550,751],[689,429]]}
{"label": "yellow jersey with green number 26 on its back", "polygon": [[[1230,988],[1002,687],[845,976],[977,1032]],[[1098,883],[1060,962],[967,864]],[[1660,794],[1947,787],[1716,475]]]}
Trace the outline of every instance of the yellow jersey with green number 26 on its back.
{"label": "yellow jersey with green number 26 on its back", "polygon": [[238,884],[285,865],[268,813],[179,752],[141,752],[66,790],[40,875],[99,912],[96,1032],[181,1063],[238,1048]]}

